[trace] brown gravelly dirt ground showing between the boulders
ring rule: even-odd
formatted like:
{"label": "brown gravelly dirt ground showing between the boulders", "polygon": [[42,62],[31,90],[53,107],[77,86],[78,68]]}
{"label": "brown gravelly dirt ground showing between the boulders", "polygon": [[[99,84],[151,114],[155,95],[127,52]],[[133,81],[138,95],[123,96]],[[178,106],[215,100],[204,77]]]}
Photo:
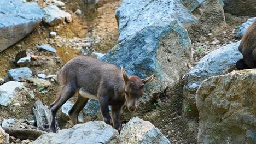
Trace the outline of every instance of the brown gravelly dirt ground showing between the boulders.
{"label": "brown gravelly dirt ground showing between the boulders", "polygon": [[[88,5],[82,0],[63,1],[66,4],[66,11],[71,13],[73,21],[71,23],[62,23],[58,26],[48,27],[43,23],[24,39],[11,46],[9,49],[0,53],[0,77],[7,75],[7,70],[18,68],[13,62],[18,52],[26,50],[31,55],[38,56],[36,61],[30,64],[33,75],[56,74],[60,68],[77,55],[89,55],[92,52],[105,53],[118,40],[118,27],[115,20],[115,9],[120,5],[120,1],[103,1],[102,3],[88,10]],[[42,6],[42,1],[38,1]],[[87,6],[87,7],[85,7]],[[81,14],[77,14],[78,9]],[[76,14],[75,14],[76,13]],[[196,65],[200,59],[219,47],[239,41],[236,38],[238,27],[245,22],[248,17],[236,17],[226,14],[227,26],[219,34],[208,34],[208,37],[200,37],[193,41],[193,63]],[[56,32],[56,35],[51,34]],[[48,44],[57,50],[57,53],[48,51],[38,51],[37,46]],[[13,104],[14,106],[0,107],[0,121],[5,118],[29,119],[32,113],[31,108],[35,101],[40,100],[45,105],[51,104],[55,100],[55,95],[59,89],[59,84],[54,79],[50,79],[51,86],[42,88],[35,86],[33,82],[22,80],[25,83],[24,91],[20,91]],[[183,83],[181,83],[183,85]],[[31,98],[30,92],[34,97]],[[75,99],[75,98],[74,98]],[[74,101],[72,99],[71,101]],[[155,109],[147,113],[147,119],[155,127],[159,128],[162,133],[172,143],[197,143],[197,137],[194,130],[189,128],[196,123],[187,124],[182,118],[182,89],[166,89],[166,93],[160,95],[160,100],[155,101]],[[67,128],[68,124],[63,124],[61,128]],[[194,128],[196,129],[196,128]],[[21,140],[11,137],[13,143],[22,143]],[[23,143],[30,143],[28,140]]]}

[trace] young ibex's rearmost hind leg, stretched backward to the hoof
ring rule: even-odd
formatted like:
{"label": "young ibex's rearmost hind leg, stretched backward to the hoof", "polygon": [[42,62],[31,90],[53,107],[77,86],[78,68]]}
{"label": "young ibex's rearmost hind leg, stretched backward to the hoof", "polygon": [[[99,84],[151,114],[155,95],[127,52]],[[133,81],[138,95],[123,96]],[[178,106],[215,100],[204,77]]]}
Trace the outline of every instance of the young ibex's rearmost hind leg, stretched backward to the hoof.
{"label": "young ibex's rearmost hind leg, stretched backward to the hoof", "polygon": [[55,116],[60,107],[75,94],[76,88],[72,85],[66,85],[61,88],[57,100],[50,105],[50,131],[56,133]]}

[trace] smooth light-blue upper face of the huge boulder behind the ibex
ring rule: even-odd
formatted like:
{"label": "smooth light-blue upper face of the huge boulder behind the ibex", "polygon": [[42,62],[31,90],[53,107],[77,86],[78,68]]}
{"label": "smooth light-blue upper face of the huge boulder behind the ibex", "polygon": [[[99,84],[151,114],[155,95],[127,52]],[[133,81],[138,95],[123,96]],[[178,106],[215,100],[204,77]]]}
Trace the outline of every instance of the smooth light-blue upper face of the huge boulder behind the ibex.
{"label": "smooth light-blue upper face of the huge boulder behind the ibex", "polygon": [[118,21],[119,42],[135,35],[143,28],[161,25],[159,21],[163,22],[162,25],[167,25],[167,22],[173,19],[182,23],[195,22],[188,10],[174,0],[125,0],[115,11],[115,16]]}

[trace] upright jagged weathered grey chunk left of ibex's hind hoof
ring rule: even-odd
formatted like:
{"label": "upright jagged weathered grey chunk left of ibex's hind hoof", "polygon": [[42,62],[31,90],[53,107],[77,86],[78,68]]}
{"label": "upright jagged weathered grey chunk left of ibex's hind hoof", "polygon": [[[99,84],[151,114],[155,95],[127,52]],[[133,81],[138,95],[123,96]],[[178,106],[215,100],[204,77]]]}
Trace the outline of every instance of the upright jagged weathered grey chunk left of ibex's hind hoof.
{"label": "upright jagged weathered grey chunk left of ibex's hind hoof", "polygon": [[37,128],[39,130],[46,130],[46,125],[49,124],[50,119],[48,108],[45,107],[41,101],[38,100],[36,101],[36,103],[34,103],[33,113],[36,117]]}

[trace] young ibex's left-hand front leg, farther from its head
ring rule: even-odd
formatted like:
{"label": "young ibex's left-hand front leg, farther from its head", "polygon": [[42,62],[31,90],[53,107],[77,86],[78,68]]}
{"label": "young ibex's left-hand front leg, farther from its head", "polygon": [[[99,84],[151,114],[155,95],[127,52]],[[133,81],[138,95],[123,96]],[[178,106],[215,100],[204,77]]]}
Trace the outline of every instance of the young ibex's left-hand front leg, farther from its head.
{"label": "young ibex's left-hand front leg, farther from its head", "polygon": [[109,109],[108,109],[108,105],[109,105],[108,97],[101,96],[98,98],[98,101],[100,102],[101,113],[102,113],[104,122],[106,124],[111,124],[111,117],[109,115]]}

